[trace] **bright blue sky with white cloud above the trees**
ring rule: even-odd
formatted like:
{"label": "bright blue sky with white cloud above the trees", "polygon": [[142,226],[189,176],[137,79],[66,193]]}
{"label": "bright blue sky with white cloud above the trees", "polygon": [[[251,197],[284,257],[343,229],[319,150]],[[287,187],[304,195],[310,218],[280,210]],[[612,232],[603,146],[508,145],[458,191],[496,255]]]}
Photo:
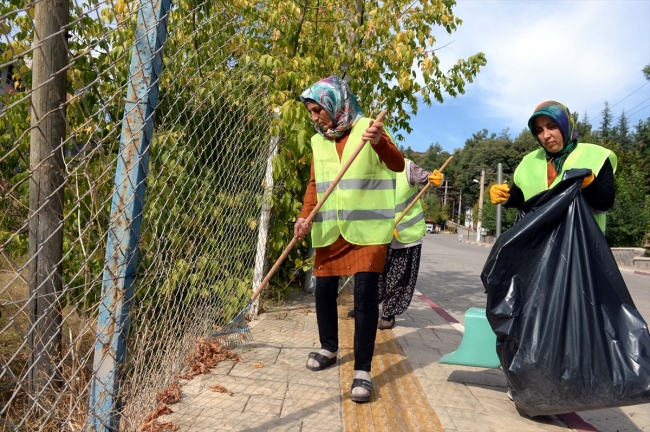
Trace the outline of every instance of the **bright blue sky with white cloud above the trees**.
{"label": "bright blue sky with white cloud above the trees", "polygon": [[413,132],[400,145],[416,151],[439,143],[453,151],[481,129],[516,137],[534,108],[556,100],[594,128],[605,101],[615,122],[650,117],[650,0],[457,0],[463,24],[452,34],[434,28],[442,70],[483,52],[487,65],[442,104],[421,104]]}

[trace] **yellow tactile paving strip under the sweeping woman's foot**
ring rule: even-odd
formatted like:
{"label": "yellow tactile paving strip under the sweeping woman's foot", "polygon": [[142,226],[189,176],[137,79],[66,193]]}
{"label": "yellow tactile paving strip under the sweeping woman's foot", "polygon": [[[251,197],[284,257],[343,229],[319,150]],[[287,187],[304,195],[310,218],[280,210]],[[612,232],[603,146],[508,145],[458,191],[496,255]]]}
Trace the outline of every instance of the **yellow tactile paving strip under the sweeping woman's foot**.
{"label": "yellow tactile paving strip under the sweeping woman's foot", "polygon": [[351,290],[339,295],[339,349],[345,430],[442,431],[442,425],[413,373],[392,330],[377,332],[372,359],[372,399],[358,404],[350,400],[354,377],[354,319],[347,313],[353,306]]}

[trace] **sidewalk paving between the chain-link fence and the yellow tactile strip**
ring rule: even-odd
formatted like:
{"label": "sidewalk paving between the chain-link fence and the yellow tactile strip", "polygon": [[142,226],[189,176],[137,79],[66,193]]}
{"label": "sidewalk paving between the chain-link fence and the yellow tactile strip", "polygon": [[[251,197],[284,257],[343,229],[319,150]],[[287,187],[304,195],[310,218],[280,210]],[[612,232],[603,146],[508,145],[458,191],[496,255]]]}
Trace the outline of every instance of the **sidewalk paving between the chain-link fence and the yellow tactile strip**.
{"label": "sidewalk paving between the chain-link fence and the yellow tactile strip", "polygon": [[[251,323],[253,341],[236,348],[242,363],[181,380],[181,402],[159,418],[180,431],[342,431],[339,368],[305,368],[320,349],[314,297],[299,295]],[[233,392],[216,393],[219,384]]]}

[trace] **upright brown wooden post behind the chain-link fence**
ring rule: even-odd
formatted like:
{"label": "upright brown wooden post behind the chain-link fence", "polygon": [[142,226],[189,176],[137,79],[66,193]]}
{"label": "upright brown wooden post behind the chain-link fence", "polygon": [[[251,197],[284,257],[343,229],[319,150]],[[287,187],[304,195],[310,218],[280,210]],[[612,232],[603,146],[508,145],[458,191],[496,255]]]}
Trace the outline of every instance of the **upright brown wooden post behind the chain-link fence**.
{"label": "upright brown wooden post behind the chain-link fence", "polygon": [[63,154],[68,1],[34,5],[34,54],[29,164],[29,392],[48,410],[43,392],[60,386]]}

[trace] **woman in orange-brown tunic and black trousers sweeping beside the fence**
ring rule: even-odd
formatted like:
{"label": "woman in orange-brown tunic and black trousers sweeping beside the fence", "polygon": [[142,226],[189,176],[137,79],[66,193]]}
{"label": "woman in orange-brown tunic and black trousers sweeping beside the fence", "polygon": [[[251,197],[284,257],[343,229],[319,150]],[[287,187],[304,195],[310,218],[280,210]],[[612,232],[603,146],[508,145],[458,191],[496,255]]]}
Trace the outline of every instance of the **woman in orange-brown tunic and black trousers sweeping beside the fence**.
{"label": "woman in orange-brown tunic and black trousers sweeping beside the fence", "polygon": [[[404,170],[402,157],[381,121],[363,116],[350,88],[336,76],[322,79],[300,96],[317,134],[311,139],[311,178],[294,235],[312,234],[316,276],[316,320],[319,352],[307,359],[307,369],[319,371],[336,363],[340,276],[354,275],[354,380],[350,397],[370,400],[370,365],[379,318],[378,281],[384,270],[395,221],[395,173]],[[313,224],[305,219],[361,141],[369,141],[320,208]]]}

